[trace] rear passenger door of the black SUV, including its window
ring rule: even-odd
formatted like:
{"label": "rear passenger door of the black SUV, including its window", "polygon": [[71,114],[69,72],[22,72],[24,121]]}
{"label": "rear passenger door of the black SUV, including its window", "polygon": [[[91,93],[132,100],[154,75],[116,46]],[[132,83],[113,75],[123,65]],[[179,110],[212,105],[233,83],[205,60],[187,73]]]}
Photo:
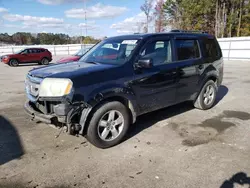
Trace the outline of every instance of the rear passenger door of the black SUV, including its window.
{"label": "rear passenger door of the black SUV, including its window", "polygon": [[199,39],[177,36],[174,40],[177,67],[177,102],[192,100],[198,90],[199,72],[204,69]]}

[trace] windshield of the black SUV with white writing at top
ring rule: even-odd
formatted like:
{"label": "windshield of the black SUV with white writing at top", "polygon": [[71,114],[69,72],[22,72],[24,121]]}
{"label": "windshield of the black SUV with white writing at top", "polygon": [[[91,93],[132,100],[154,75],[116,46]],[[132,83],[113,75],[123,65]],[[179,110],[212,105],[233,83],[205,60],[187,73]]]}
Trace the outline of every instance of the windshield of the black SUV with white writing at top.
{"label": "windshield of the black SUV with white writing at top", "polygon": [[105,40],[89,50],[80,61],[107,64],[123,64],[131,56],[139,40]]}

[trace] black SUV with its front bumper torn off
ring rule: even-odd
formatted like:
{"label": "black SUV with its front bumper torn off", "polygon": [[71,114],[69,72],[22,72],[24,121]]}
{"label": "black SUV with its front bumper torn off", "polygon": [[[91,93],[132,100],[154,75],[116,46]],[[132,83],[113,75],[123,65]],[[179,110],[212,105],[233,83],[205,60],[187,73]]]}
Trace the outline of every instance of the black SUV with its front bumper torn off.
{"label": "black SUV with its front bumper torn off", "polygon": [[31,70],[27,113],[86,135],[97,147],[121,142],[137,116],[183,101],[209,109],[223,77],[216,38],[174,31],[111,37],[79,62]]}

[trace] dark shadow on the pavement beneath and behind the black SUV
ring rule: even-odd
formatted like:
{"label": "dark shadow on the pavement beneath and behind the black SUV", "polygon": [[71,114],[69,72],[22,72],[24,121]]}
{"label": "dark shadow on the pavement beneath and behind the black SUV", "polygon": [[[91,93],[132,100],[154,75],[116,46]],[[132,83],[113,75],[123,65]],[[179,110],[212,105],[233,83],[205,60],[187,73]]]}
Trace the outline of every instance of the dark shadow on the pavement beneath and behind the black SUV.
{"label": "dark shadow on the pavement beneath and behind the black SUV", "polygon": [[[215,105],[217,105],[227,95],[227,93],[228,93],[228,88],[224,85],[220,86],[217,93]],[[134,137],[144,129],[151,127],[152,125],[154,125],[159,121],[188,112],[192,109],[194,109],[192,102],[184,102],[148,114],[144,114],[138,117],[137,122],[135,123],[134,126],[130,127],[125,140]]]}

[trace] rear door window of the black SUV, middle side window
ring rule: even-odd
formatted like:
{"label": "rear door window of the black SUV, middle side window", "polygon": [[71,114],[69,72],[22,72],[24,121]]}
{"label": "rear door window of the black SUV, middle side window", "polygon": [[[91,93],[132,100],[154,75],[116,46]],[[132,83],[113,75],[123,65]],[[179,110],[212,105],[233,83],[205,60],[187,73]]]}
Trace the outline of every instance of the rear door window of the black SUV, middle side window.
{"label": "rear door window of the black SUV, middle side window", "polygon": [[197,40],[177,39],[175,41],[177,60],[196,59],[200,57],[200,50]]}

